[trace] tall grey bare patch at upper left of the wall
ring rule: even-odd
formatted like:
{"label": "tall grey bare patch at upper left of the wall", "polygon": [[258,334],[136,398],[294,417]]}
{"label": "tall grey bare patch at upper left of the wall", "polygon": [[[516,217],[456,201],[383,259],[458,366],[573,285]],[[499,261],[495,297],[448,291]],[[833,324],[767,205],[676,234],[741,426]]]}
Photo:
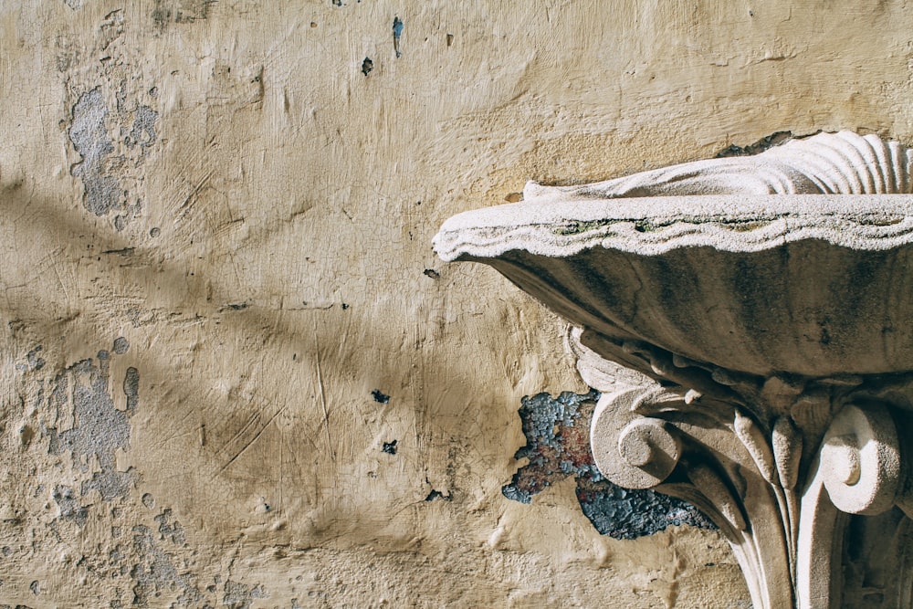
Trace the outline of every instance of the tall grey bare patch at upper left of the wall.
{"label": "tall grey bare patch at upper left of the wall", "polygon": [[95,215],[105,215],[126,206],[120,182],[106,167],[107,157],[114,152],[107,118],[108,106],[100,87],[96,87],[79,96],[73,106],[73,121],[69,128],[69,141],[82,157],[70,173],[82,180],[85,188],[82,203]]}

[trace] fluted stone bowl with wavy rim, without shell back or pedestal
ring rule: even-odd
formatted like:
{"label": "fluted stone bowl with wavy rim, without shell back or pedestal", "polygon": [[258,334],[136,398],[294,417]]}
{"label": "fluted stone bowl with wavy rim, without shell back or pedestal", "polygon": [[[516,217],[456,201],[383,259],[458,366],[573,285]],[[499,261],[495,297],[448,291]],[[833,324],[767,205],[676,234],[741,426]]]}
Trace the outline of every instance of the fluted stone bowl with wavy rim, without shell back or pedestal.
{"label": "fluted stone bowl with wavy rim, without shell back or pedestal", "polygon": [[540,196],[456,215],[435,247],[616,344],[829,377],[913,370],[911,242],[905,194]]}

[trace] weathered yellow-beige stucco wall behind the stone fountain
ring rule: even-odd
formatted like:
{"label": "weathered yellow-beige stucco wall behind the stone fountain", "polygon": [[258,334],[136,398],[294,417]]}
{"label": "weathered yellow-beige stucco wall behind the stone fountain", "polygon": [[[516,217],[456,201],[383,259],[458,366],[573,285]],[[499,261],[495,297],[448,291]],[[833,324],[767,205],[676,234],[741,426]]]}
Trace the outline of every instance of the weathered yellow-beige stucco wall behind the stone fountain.
{"label": "weathered yellow-beige stucco wall behind the stone fountain", "polygon": [[913,142],[905,3],[14,4],[0,605],[748,606],[712,530],[502,495],[521,397],[587,388],[430,240],[528,179]]}

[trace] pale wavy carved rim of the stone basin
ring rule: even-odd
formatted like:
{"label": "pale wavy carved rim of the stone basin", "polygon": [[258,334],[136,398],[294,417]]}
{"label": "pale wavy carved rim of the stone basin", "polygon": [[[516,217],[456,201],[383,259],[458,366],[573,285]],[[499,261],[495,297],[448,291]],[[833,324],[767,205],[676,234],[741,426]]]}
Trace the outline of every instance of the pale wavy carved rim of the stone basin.
{"label": "pale wavy carved rim of the stone basin", "polygon": [[[547,189],[544,189],[547,191]],[[591,247],[653,256],[677,247],[753,252],[803,239],[885,250],[913,241],[910,194],[689,195],[585,198],[545,193],[448,219],[446,261],[525,250],[566,257]]]}

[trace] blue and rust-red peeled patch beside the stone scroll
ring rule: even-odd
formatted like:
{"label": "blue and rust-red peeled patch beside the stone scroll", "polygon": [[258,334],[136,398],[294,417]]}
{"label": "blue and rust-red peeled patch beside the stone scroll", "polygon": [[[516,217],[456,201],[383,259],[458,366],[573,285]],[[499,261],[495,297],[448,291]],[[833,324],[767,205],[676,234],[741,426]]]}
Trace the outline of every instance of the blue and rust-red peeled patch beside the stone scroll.
{"label": "blue and rust-red peeled patch beside the stone scroll", "polygon": [[704,514],[685,501],[653,490],[621,488],[603,478],[590,451],[590,421],[598,399],[595,390],[522,399],[519,416],[527,444],[514,458],[530,461],[501,489],[504,496],[530,503],[536,493],[573,476],[583,514],[603,535],[634,539],[681,524],[715,529]]}

